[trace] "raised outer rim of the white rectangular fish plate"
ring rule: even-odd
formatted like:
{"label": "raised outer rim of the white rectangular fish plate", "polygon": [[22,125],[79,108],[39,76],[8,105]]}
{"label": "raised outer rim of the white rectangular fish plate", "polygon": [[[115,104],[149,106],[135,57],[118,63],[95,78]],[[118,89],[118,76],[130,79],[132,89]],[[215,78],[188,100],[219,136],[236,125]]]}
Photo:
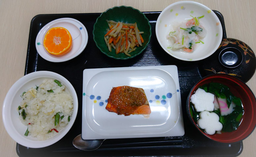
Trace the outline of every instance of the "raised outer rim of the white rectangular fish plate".
{"label": "raised outer rim of the white rectangular fish plate", "polygon": [[[171,69],[175,69],[174,71],[170,72]],[[137,69],[156,69],[156,70],[161,70],[170,75],[172,77],[173,81],[175,82],[176,89],[179,89],[180,91],[180,86],[179,86],[179,79],[178,79],[178,69],[177,66],[175,65],[167,65],[167,66],[148,66],[148,67],[121,67],[121,68],[98,68],[98,69],[85,69],[84,70],[84,79],[83,79],[83,93],[86,92],[86,87],[88,82],[92,79],[93,76],[100,74],[101,72],[106,72],[106,71],[123,71],[123,70],[137,70]],[[86,70],[93,70],[92,73],[87,73],[89,75],[86,75],[85,71]],[[169,71],[169,72],[168,72]],[[97,81],[96,81],[97,82]],[[114,85],[115,86],[115,85]],[[87,122],[86,118],[86,106],[85,106],[85,98],[86,96],[83,96],[83,109],[82,109],[82,138],[83,139],[117,139],[117,138],[141,138],[141,137],[162,137],[162,136],[183,136],[185,131],[184,131],[184,124],[183,124],[183,116],[182,116],[182,108],[181,108],[181,98],[180,98],[180,92],[177,92],[177,107],[179,110],[178,114],[178,119],[176,124],[170,128],[168,131],[158,131],[157,133],[129,133],[129,134],[101,134],[98,133],[97,131],[94,131],[90,125]],[[103,114],[103,113],[102,113]],[[120,116],[120,115],[119,115]],[[122,116],[122,115],[121,115]],[[113,118],[113,117],[111,117]],[[129,117],[128,117],[129,118]]]}

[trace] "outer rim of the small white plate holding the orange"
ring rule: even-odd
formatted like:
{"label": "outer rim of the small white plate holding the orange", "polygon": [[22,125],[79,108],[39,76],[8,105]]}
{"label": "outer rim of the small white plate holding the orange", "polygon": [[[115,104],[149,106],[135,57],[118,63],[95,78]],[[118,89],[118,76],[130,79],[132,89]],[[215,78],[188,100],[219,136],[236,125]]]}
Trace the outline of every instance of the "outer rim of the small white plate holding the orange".
{"label": "outer rim of the small white plate holding the orange", "polygon": [[[81,46],[79,47],[79,49],[78,49],[78,51],[76,52],[76,54],[70,56],[69,58],[64,58],[64,59],[63,59],[63,58],[60,57],[60,58],[56,59],[56,58],[53,58],[50,54],[47,54],[47,55],[49,55],[49,56],[48,56],[48,57],[45,57],[44,53],[48,53],[48,52],[47,52],[46,50],[45,50],[45,52],[42,52],[42,51],[38,48],[37,43],[41,41],[41,40],[40,40],[41,38],[44,38],[44,35],[45,35],[45,34],[42,34],[42,33],[44,33],[43,31],[46,31],[46,30],[49,29],[52,25],[54,25],[54,24],[56,24],[56,23],[59,23],[59,22],[62,22],[62,21],[69,22],[69,23],[71,23],[71,24],[73,24],[73,25],[77,25],[77,24],[78,24],[78,25],[81,25],[81,27],[82,27],[83,30],[84,30],[84,33],[81,33],[81,35],[82,35],[82,43],[81,43]],[[77,23],[77,24],[76,24],[76,23]],[[45,32],[45,33],[46,33],[46,32]],[[40,36],[40,37],[39,37],[39,36]],[[84,51],[84,49],[85,49],[87,43],[88,43],[88,32],[87,32],[85,26],[84,26],[80,21],[78,21],[78,20],[76,20],[76,19],[74,19],[74,18],[58,18],[58,19],[56,19],[56,20],[53,20],[53,21],[49,22],[48,24],[46,24],[46,25],[38,32],[38,34],[37,34],[37,36],[36,36],[36,42],[35,42],[35,44],[36,44],[36,51],[38,52],[38,54],[39,54],[42,58],[44,58],[45,60],[51,61],[51,62],[64,62],[64,61],[69,61],[69,60],[75,58],[76,56],[78,56],[79,54],[81,54],[81,53]],[[43,45],[42,45],[42,46],[43,46]],[[44,46],[43,46],[43,49],[44,49]],[[64,55],[65,55],[65,54],[64,54]]]}

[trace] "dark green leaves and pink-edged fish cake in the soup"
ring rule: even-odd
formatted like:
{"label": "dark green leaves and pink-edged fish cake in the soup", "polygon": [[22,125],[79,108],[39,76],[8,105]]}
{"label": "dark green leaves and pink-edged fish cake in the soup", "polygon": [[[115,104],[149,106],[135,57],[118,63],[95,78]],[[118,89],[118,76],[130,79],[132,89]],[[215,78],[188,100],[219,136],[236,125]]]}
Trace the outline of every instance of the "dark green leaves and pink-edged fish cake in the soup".
{"label": "dark green leaves and pink-edged fish cake in the soup", "polygon": [[[215,95],[213,102],[215,106],[212,112],[220,117],[219,121],[223,125],[221,132],[232,132],[236,130],[241,124],[244,114],[241,99],[234,96],[228,86],[221,83],[211,82],[199,88]],[[199,119],[200,112],[197,112],[193,105],[190,105],[190,113],[196,122]]]}

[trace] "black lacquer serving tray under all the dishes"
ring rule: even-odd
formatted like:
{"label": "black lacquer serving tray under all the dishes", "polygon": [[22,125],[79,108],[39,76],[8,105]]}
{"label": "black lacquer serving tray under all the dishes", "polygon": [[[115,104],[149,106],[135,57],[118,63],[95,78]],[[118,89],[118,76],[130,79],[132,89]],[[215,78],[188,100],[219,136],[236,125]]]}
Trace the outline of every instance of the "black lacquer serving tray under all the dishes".
{"label": "black lacquer serving tray under all the dishes", "polygon": [[[221,21],[223,39],[227,38],[224,19],[220,12],[214,11]],[[222,144],[204,137],[190,123],[186,113],[186,100],[190,89],[204,75],[203,61],[181,61],[173,58],[161,48],[156,39],[155,26],[160,12],[144,12],[152,27],[152,37],[147,49],[129,60],[115,60],[102,54],[96,47],[92,30],[100,13],[86,14],[46,14],[35,16],[30,25],[28,53],[25,75],[34,71],[53,71],[72,83],[78,96],[78,114],[70,131],[57,143],[44,148],[28,148],[17,143],[19,156],[238,156],[243,143]],[[88,44],[79,56],[60,63],[44,60],[36,52],[36,35],[47,23],[57,18],[75,18],[82,22],[89,35]],[[212,56],[208,57],[211,58]],[[180,137],[107,139],[95,151],[76,149],[72,141],[82,132],[82,83],[83,70],[87,68],[112,68],[133,66],[176,65],[178,67],[185,135]],[[253,71],[254,73],[254,71]],[[253,74],[252,74],[253,75]]]}

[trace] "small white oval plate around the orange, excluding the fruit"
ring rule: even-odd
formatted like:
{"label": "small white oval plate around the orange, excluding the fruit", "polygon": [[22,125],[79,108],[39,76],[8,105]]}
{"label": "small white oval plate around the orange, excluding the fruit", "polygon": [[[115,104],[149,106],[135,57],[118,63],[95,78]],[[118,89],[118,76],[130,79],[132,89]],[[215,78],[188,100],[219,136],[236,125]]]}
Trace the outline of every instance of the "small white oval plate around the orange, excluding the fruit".
{"label": "small white oval plate around the orange, excluding the fruit", "polygon": [[[71,50],[60,56],[50,54],[44,48],[44,36],[53,27],[63,27],[70,32],[72,37]],[[81,54],[88,42],[88,33],[85,26],[74,18],[59,18],[46,24],[36,36],[36,51],[38,54],[47,61],[51,62],[64,62],[71,60]]]}

